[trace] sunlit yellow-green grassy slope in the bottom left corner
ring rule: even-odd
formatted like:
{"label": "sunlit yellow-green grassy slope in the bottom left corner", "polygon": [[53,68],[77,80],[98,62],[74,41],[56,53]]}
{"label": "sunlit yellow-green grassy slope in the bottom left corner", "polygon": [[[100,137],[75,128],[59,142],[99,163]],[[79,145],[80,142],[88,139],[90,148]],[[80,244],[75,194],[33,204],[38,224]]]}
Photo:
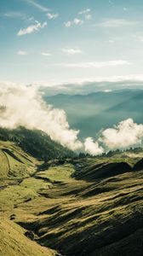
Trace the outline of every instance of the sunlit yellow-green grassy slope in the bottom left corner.
{"label": "sunlit yellow-green grassy slope in the bottom left corner", "polygon": [[40,247],[25,236],[26,230],[7,218],[0,218],[1,256],[55,256],[53,250]]}

